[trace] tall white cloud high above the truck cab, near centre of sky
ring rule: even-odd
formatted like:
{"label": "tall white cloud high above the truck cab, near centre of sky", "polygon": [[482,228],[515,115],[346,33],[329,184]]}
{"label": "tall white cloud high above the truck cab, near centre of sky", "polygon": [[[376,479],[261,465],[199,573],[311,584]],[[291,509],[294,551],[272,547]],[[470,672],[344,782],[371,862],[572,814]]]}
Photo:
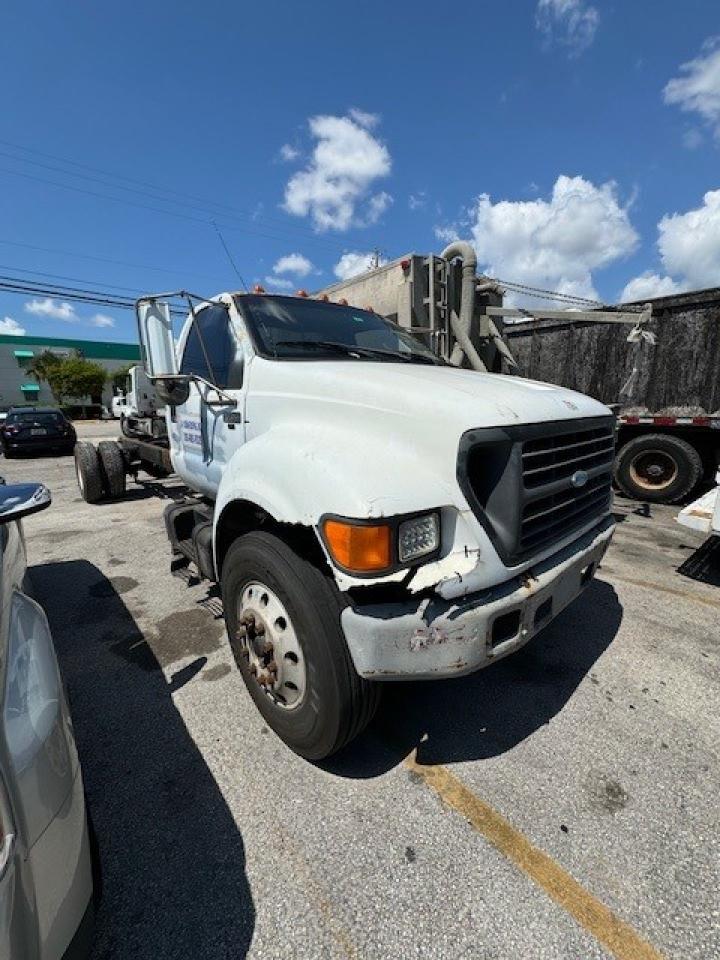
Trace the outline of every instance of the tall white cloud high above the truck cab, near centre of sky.
{"label": "tall white cloud high above the truck cab, near centre of sky", "polygon": [[374,181],[388,176],[391,167],[387,147],[370,133],[376,122],[357,110],[344,117],[311,117],[315,147],[305,169],[288,181],[284,209],[309,216],[319,231],[374,223],[391,200],[387,193],[370,195]]}

